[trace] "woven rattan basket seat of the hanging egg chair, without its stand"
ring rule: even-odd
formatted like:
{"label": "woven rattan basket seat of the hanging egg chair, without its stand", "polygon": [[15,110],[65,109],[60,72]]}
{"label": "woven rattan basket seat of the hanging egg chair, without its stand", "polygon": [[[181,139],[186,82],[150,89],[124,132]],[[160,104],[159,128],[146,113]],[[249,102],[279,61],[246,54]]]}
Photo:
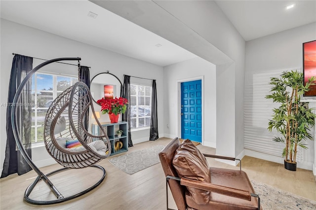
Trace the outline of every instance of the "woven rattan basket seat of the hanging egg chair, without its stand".
{"label": "woven rattan basket seat of the hanging egg chair, without its stand", "polygon": [[[111,154],[111,143],[104,131],[104,135],[94,136],[84,128],[83,118],[89,108],[94,113],[89,88],[83,82],[77,82],[61,93],[47,110],[44,122],[45,146],[49,154],[66,168],[92,166]],[[102,131],[97,117],[95,119]],[[67,141],[73,143],[73,140],[78,140],[77,143],[82,146],[67,148]]]}

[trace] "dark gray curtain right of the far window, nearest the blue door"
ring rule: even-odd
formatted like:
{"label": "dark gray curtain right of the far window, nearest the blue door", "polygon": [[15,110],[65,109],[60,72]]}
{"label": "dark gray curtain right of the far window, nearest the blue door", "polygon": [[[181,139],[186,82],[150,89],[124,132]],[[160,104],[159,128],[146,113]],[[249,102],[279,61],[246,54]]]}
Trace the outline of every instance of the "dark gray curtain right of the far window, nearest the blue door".
{"label": "dark gray curtain right of the far window, nearest the blue door", "polygon": [[158,138],[159,136],[158,136],[158,115],[157,115],[157,88],[156,88],[156,80],[153,80],[152,113],[151,113],[149,140],[157,140]]}

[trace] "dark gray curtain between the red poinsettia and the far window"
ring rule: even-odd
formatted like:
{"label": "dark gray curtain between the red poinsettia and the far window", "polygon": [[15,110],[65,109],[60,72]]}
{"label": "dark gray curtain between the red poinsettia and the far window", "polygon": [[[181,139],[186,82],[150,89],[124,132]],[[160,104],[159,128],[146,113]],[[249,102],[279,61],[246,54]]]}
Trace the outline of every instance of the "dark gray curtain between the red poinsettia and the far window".
{"label": "dark gray curtain between the red poinsettia and the far window", "polygon": [[124,75],[124,83],[123,83],[123,98],[128,100],[127,109],[125,114],[122,114],[122,120],[128,122],[128,147],[133,146],[132,136],[130,132],[130,76]]}

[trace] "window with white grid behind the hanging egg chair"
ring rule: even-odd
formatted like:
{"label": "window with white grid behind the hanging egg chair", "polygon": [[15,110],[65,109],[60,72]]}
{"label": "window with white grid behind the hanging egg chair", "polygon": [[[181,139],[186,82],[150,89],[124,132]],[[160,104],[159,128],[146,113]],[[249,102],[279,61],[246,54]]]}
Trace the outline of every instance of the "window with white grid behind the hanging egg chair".
{"label": "window with white grid behind the hanging egg chair", "polygon": [[32,143],[44,140],[44,120],[48,107],[57,96],[77,81],[75,76],[50,73],[32,75]]}

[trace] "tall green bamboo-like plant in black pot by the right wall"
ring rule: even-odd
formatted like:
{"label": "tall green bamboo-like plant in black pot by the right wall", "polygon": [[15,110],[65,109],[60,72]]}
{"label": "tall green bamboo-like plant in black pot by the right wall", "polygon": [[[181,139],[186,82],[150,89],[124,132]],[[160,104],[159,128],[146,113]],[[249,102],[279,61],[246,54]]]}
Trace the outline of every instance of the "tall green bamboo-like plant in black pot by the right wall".
{"label": "tall green bamboo-like plant in black pot by the right wall", "polygon": [[285,143],[282,156],[284,167],[290,171],[296,171],[297,147],[307,149],[306,140],[313,140],[309,133],[310,127],[315,125],[316,115],[306,104],[301,103],[301,95],[307,92],[310,86],[315,85],[314,76],[304,86],[303,73],[297,70],[284,71],[280,78],[271,78],[271,95],[267,99],[273,99],[279,107],[273,109],[272,120],[269,121],[268,130],[276,129],[282,137],[273,140]]}

